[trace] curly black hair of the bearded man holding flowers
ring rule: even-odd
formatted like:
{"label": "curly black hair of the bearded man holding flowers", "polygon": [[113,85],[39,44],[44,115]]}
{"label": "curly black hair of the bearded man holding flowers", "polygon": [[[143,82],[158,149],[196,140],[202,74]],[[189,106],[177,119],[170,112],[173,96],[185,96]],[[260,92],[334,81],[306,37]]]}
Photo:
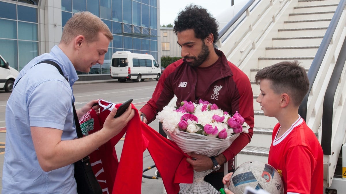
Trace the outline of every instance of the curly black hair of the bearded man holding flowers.
{"label": "curly black hair of the bearded man holding flowers", "polygon": [[174,20],[174,33],[193,29],[195,37],[204,40],[210,33],[214,35],[214,41],[216,42],[219,33],[219,22],[212,17],[206,9],[190,4],[185,7],[185,10],[181,11]]}

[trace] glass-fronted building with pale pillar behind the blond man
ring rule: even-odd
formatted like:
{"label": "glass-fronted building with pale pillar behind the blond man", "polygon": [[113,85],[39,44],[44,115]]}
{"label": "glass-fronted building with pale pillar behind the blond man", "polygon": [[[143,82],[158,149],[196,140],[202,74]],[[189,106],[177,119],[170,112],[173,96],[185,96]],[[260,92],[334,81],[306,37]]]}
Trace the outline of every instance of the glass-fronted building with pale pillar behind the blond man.
{"label": "glass-fronted building with pale pillar behind the blond man", "polygon": [[0,54],[20,71],[31,59],[59,43],[62,29],[74,13],[90,11],[106,23],[113,41],[104,65],[95,65],[89,75],[109,75],[110,59],[116,51],[151,54],[160,61],[158,3],[159,0],[0,0]]}

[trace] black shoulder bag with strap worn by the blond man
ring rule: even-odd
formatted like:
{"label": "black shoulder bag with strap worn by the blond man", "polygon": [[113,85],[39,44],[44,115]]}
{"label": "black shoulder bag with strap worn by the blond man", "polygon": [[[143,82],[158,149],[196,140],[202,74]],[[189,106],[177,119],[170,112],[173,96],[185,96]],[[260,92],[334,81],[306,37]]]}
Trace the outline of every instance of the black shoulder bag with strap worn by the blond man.
{"label": "black shoulder bag with strap worn by the blond man", "polygon": [[[51,64],[54,67],[58,69],[60,74],[64,76],[63,71],[61,70],[60,66],[56,64],[54,61],[41,61],[37,64],[46,63]],[[36,65],[37,65],[36,64]],[[19,78],[20,80],[21,78]],[[67,78],[65,78],[67,80]],[[19,82],[17,81],[17,83]],[[14,86],[15,87],[15,86]],[[13,87],[13,88],[14,88]],[[76,125],[76,132],[78,138],[83,137],[81,126],[79,125],[79,120],[77,117],[77,112],[74,107],[74,103],[72,102],[73,107],[73,117],[74,117],[74,123]],[[102,188],[100,184],[97,181],[97,178],[95,177],[94,173],[92,172],[89,156],[85,156],[83,159],[77,161],[74,163],[74,178],[77,183],[77,193],[79,194],[102,194]]]}

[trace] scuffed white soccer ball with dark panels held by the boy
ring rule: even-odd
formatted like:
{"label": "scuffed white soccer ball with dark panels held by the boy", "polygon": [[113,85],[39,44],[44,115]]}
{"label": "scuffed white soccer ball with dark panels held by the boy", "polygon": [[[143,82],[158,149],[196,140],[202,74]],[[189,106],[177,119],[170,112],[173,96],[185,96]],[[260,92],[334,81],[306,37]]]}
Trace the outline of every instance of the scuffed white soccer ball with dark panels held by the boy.
{"label": "scuffed white soccer ball with dark panels held by the boy", "polygon": [[246,186],[256,190],[263,189],[272,194],[283,194],[280,174],[273,166],[259,161],[245,162],[235,169],[229,190],[235,194],[242,194]]}

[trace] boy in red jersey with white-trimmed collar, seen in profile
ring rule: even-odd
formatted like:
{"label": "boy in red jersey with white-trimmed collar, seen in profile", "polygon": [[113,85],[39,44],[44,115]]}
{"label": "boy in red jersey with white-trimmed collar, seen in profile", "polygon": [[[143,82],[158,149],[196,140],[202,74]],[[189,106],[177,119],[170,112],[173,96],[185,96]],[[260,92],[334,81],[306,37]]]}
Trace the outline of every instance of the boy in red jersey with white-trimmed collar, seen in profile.
{"label": "boy in red jersey with white-trimmed collar, seen in profile", "polygon": [[273,129],[268,163],[282,172],[284,193],[322,194],[323,151],[318,139],[298,114],[309,89],[306,71],[298,61],[284,61],[257,72],[257,98],[264,115],[279,123]]}

